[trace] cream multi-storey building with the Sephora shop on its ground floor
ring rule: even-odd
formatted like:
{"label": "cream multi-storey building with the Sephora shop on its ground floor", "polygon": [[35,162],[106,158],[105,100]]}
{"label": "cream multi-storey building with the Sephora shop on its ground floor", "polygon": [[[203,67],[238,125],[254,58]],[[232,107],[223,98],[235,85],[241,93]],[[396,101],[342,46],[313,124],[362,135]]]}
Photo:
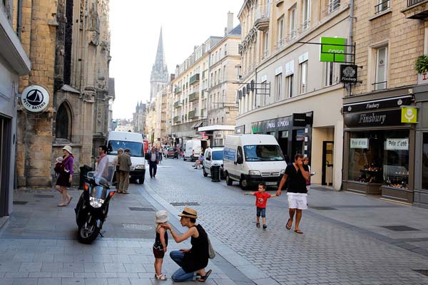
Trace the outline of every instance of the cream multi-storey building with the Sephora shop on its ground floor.
{"label": "cream multi-storey building with the Sephora shop on its ground floor", "polygon": [[235,133],[274,135],[288,162],[310,158],[312,183],[342,184],[339,63],[320,61],[320,38],[350,41],[350,5],[335,0],[244,1]]}

